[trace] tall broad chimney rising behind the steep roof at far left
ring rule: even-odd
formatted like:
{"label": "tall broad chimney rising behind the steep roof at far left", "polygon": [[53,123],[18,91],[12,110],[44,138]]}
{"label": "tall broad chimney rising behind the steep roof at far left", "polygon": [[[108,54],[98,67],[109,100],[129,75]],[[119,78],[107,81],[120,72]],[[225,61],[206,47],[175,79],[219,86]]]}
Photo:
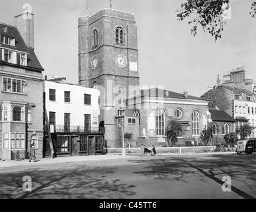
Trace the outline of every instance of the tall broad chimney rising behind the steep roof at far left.
{"label": "tall broad chimney rising behind the steep roof at far left", "polygon": [[23,37],[25,44],[34,49],[34,14],[23,12],[14,17],[15,26]]}

